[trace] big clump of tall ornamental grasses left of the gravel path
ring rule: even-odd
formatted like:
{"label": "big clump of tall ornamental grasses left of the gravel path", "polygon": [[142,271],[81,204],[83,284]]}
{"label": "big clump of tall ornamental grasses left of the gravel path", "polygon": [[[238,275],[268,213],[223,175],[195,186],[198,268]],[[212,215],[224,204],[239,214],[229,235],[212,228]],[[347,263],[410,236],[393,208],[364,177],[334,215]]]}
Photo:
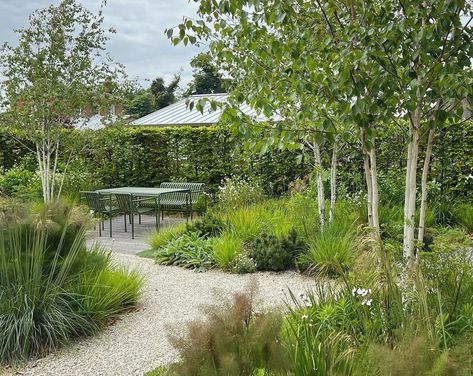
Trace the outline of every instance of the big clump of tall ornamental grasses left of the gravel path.
{"label": "big clump of tall ornamental grasses left of the gravel path", "polygon": [[74,211],[41,209],[0,232],[0,363],[43,356],[137,304],[141,278],[87,251]]}

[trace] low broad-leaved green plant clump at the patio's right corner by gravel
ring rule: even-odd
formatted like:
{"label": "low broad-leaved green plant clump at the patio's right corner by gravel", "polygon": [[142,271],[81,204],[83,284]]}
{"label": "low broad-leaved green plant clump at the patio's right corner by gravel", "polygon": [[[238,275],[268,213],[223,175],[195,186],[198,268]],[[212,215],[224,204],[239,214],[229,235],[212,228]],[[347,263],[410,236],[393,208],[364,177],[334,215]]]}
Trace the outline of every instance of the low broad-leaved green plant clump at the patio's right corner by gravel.
{"label": "low broad-leaved green plant clump at the patio's right corner by gravel", "polygon": [[156,252],[156,262],[205,271],[214,266],[212,240],[198,233],[183,234],[166,243]]}

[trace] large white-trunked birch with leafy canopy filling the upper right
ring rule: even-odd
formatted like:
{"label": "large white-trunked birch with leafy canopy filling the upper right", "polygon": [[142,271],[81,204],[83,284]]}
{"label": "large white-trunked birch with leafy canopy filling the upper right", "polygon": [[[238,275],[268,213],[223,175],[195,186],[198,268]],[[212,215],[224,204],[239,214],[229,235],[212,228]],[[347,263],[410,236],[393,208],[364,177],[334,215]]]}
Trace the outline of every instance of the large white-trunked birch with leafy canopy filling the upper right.
{"label": "large white-trunked birch with leafy canopy filling the upper right", "polygon": [[[199,20],[185,19],[168,36],[175,44],[208,43],[220,68],[239,83],[231,88],[236,103],[264,114],[299,103],[297,116],[306,121],[320,120],[319,108],[329,108],[360,129],[368,207],[377,231],[376,129],[388,121],[408,124],[407,145],[396,147],[407,154],[403,252],[411,266],[421,136],[430,119],[461,116],[455,103],[471,95],[471,4],[202,0],[198,13]],[[287,142],[296,131],[274,128],[280,136],[269,143]]]}

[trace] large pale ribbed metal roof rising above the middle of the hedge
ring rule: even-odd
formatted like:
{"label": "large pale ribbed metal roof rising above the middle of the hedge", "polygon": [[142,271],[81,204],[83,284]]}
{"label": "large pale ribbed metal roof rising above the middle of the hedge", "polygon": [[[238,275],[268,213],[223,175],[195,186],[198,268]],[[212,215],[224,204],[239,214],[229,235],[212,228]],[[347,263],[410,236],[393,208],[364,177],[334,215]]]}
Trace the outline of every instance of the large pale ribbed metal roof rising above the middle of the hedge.
{"label": "large pale ribbed metal roof rising above the middle of the hedge", "polygon": [[[188,100],[198,101],[201,98],[208,98],[216,102],[224,103],[227,101],[228,94],[222,93],[191,95],[189,98],[182,99],[149,115],[136,119],[131,124],[135,126],[198,126],[218,123],[220,116],[222,115],[222,109],[217,108],[215,111],[212,111],[210,108],[210,103],[208,102],[205,103],[203,113],[196,110],[195,108],[192,110],[188,108],[186,104]],[[247,104],[242,104],[240,106],[240,110],[246,115],[252,116],[259,121],[266,120],[264,116],[258,116],[256,111]]]}

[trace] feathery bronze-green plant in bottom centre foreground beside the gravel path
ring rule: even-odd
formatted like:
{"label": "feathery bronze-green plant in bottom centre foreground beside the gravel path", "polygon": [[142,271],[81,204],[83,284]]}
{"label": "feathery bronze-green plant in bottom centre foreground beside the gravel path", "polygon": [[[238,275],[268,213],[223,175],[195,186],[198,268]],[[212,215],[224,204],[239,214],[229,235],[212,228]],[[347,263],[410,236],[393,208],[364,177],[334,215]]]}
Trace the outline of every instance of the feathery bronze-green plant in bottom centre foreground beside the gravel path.
{"label": "feathery bronze-green plant in bottom centre foreground beside the gravel path", "polygon": [[[257,314],[253,289],[223,307],[209,308],[206,319],[191,323],[172,343],[180,361],[170,375],[285,374],[287,356],[280,343],[281,317]],[[266,373],[258,373],[264,369]]]}

